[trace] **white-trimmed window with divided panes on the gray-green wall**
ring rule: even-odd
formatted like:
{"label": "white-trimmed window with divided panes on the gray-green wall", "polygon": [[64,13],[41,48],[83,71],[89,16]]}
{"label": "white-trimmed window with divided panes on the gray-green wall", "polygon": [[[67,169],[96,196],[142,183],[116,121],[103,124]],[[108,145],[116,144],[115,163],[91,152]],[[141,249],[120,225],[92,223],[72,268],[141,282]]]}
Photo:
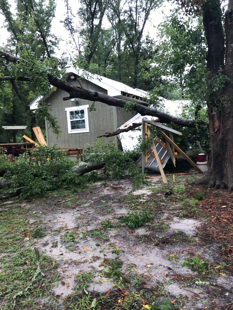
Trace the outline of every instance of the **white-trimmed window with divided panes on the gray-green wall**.
{"label": "white-trimmed window with divided panes on the gray-green wall", "polygon": [[68,133],[89,132],[88,109],[89,105],[66,108]]}

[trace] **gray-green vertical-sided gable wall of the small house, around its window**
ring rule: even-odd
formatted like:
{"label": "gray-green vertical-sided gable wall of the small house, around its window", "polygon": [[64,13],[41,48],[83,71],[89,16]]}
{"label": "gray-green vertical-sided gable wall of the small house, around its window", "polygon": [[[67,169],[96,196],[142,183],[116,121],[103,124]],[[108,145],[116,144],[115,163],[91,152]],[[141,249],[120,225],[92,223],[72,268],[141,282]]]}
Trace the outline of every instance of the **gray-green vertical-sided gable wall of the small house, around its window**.
{"label": "gray-green vertical-sided gable wall of the small house, around its window", "polygon": [[[79,80],[80,84],[68,78],[67,82],[80,86],[80,84],[86,88],[91,89],[93,91],[103,92],[107,94],[107,91],[92,82],[89,82],[85,79]],[[122,108],[116,108],[112,106],[108,106],[107,104],[103,104],[100,102],[95,102],[96,111],[90,112],[88,109],[88,118],[89,118],[89,132],[85,133],[72,133],[68,134],[68,124],[67,124],[67,116],[65,108],[76,107],[81,105],[89,105],[93,104],[92,101],[78,99],[77,102],[71,102],[71,100],[63,101],[63,97],[69,96],[68,93],[57,89],[47,100],[47,103],[51,105],[49,108],[52,109],[51,114],[57,117],[57,121],[59,123],[60,137],[56,137],[51,131],[48,129],[48,123],[46,122],[46,136],[47,136],[47,144],[48,146],[53,146],[56,144],[58,147],[63,148],[86,148],[88,144],[92,144],[98,136],[103,135],[105,132],[117,130],[117,127],[130,119],[135,113],[127,113]],[[120,110],[119,110],[120,109]],[[118,115],[118,117],[117,117]],[[126,119],[126,120],[125,120]],[[110,140],[117,141],[116,136],[112,138],[104,138],[103,141],[107,142]]]}

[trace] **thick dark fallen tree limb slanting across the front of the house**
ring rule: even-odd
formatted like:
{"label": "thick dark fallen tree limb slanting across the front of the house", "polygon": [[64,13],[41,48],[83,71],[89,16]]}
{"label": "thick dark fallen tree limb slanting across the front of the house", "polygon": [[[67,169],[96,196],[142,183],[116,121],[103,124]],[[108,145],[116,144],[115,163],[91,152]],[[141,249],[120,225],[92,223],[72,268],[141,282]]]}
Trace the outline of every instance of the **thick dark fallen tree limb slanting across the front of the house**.
{"label": "thick dark fallen tree limb slanting across the front of the house", "polygon": [[[13,55],[8,54],[5,51],[0,50],[0,55],[2,55],[5,60],[8,60],[13,63],[17,63],[20,59],[18,57],[15,57]],[[28,64],[27,61],[23,60],[25,64]],[[30,70],[30,66],[29,66]],[[73,86],[67,82],[62,82],[59,78],[54,77],[53,75],[47,73],[48,81],[51,85],[62,89],[66,91],[70,96],[69,97],[64,97],[63,100],[69,100],[71,98],[80,98],[80,99],[85,99],[85,100],[90,100],[90,101],[99,101],[102,103],[105,103],[110,106],[115,106],[115,107],[125,107],[125,100],[121,100],[97,91],[92,91],[92,90],[87,90],[85,88]],[[185,119],[177,116],[172,116],[170,114],[167,114],[165,112],[159,111],[154,108],[148,108],[143,106],[142,104],[135,103],[133,110],[140,113],[141,115],[151,115],[154,117],[158,117],[160,119],[160,122],[164,123],[170,123],[174,122],[177,125],[180,126],[187,126],[187,127],[192,127],[195,128],[197,125],[205,125],[208,126],[208,122],[205,121],[199,121],[196,122],[195,120],[190,120],[190,119]]]}

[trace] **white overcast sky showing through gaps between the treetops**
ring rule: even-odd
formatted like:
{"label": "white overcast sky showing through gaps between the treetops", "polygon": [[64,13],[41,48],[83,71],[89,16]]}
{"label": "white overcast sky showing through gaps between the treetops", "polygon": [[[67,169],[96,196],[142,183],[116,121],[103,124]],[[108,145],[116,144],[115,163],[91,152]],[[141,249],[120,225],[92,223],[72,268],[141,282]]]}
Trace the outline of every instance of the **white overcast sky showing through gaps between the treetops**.
{"label": "white overcast sky showing through gaps between the treetops", "polygon": [[[12,10],[14,10],[15,8],[14,0],[9,0],[9,3],[11,4]],[[70,5],[72,7],[73,14],[75,15],[80,5],[79,1],[70,1]],[[161,23],[161,21],[166,15],[169,15],[169,11],[171,8],[172,8],[171,2],[168,3],[168,1],[164,1],[161,8],[152,12],[150,20],[148,20],[146,24],[144,35],[149,33],[150,37],[156,40],[157,38],[156,27],[158,26],[158,24]],[[57,37],[62,38],[62,41],[59,44],[60,51],[58,52],[58,54],[61,54],[63,51],[66,51],[66,49],[68,49],[69,52],[71,52],[72,50],[72,47],[67,44],[67,40],[69,39],[69,33],[66,31],[66,29],[63,27],[63,24],[60,22],[61,20],[64,20],[65,11],[66,11],[66,8],[65,8],[64,1],[57,0],[56,13],[52,21],[52,32]],[[4,25],[4,18],[1,14],[0,14],[0,25]],[[106,27],[106,28],[108,27],[107,18],[103,20],[103,27]],[[7,29],[2,27],[0,31],[0,44],[5,45],[7,43],[7,38],[8,38]]]}

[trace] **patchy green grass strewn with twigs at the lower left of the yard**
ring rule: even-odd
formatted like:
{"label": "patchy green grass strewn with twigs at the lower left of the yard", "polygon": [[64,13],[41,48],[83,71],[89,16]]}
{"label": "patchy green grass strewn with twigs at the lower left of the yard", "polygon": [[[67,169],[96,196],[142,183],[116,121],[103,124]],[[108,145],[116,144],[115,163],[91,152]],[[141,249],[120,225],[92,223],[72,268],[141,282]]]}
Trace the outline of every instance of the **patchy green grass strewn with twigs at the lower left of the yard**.
{"label": "patchy green grass strewn with twigs at the lower left of the yard", "polygon": [[52,283],[57,281],[53,261],[42,253],[37,261],[34,248],[28,245],[33,236],[39,237],[43,231],[28,224],[33,217],[28,208],[16,208],[0,215],[2,310],[41,309],[37,299],[49,296]]}

